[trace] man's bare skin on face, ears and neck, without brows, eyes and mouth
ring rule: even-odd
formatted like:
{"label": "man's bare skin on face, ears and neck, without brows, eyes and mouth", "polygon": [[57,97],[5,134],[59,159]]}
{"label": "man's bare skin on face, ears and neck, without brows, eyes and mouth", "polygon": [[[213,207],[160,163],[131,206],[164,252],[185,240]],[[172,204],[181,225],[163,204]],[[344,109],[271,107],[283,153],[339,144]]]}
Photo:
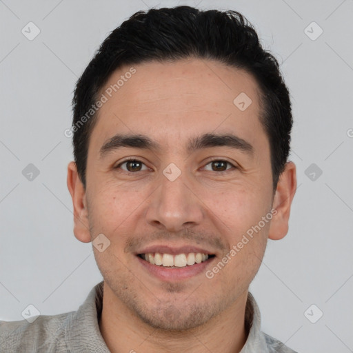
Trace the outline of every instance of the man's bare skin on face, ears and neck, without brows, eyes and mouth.
{"label": "man's bare skin on face, ears and neck, without brows, eyes and mouth", "polygon": [[[104,279],[101,333],[111,352],[239,352],[248,334],[250,282],[268,238],[288,232],[295,166],[287,163],[274,193],[259,88],[250,74],[201,59],[134,68],[137,72],[99,110],[86,190],[74,162],[68,165],[74,235],[89,242],[103,233],[110,240],[103,252],[93,248]],[[105,88],[128,69],[114,72]],[[252,99],[244,111],[233,103],[241,92]],[[147,135],[162,149],[120,148],[100,158],[101,146],[117,133]],[[253,152],[227,146],[188,152],[188,139],[203,133],[236,134]],[[120,165],[127,157],[143,164]],[[220,172],[211,159],[230,164]],[[181,171],[175,181],[163,174],[170,163]],[[272,208],[272,221],[208,279],[206,270]],[[200,246],[215,258],[188,279],[163,281],[135,254],[149,245]]]}

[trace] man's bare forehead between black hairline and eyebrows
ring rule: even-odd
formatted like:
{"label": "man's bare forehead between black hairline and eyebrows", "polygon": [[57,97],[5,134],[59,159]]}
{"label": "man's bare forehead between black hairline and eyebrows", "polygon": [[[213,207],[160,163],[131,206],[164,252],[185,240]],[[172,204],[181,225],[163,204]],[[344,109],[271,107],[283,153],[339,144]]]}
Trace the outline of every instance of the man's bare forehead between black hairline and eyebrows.
{"label": "man's bare forehead between black hairline and eyebrows", "polygon": [[254,142],[266,139],[256,81],[217,61],[125,66],[112,73],[100,94],[106,101],[90,139],[94,150],[121,132],[148,134],[166,148],[194,132],[232,132]]}

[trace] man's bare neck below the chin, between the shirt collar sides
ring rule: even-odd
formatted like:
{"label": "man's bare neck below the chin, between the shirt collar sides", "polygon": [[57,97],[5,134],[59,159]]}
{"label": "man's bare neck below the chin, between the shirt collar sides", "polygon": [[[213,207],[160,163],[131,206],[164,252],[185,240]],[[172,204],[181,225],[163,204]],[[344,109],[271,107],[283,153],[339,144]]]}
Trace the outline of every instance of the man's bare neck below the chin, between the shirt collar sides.
{"label": "man's bare neck below the chin, between the shirt collar sides", "polygon": [[239,353],[248,336],[245,306],[248,290],[208,323],[184,332],[165,332],[147,325],[104,282],[101,335],[110,352]]}

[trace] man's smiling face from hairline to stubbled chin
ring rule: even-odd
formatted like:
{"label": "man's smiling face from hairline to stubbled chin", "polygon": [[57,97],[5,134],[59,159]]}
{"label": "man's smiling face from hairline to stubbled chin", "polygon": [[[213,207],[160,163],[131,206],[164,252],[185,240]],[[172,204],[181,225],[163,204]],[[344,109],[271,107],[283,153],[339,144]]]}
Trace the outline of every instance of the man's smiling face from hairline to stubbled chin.
{"label": "man's smiling face from hairline to stubbled chin", "polygon": [[[110,241],[94,255],[132,315],[186,330],[229,310],[259,270],[276,217],[270,145],[242,70],[199,59],[134,69],[99,110],[75,235]],[[234,104],[241,92],[250,105]]]}

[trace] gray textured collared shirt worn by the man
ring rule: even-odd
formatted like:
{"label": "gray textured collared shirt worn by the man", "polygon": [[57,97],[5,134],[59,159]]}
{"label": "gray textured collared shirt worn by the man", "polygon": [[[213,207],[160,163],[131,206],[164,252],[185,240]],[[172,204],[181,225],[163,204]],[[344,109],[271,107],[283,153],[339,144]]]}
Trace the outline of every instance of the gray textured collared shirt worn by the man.
{"label": "gray textured collared shirt worn by the man", "polygon": [[[76,312],[40,315],[26,320],[0,321],[1,353],[109,353],[99,331],[103,281],[92,288]],[[296,353],[260,330],[259,307],[249,292],[245,310],[248,339],[240,353]],[[133,349],[133,347],[132,347]]]}

